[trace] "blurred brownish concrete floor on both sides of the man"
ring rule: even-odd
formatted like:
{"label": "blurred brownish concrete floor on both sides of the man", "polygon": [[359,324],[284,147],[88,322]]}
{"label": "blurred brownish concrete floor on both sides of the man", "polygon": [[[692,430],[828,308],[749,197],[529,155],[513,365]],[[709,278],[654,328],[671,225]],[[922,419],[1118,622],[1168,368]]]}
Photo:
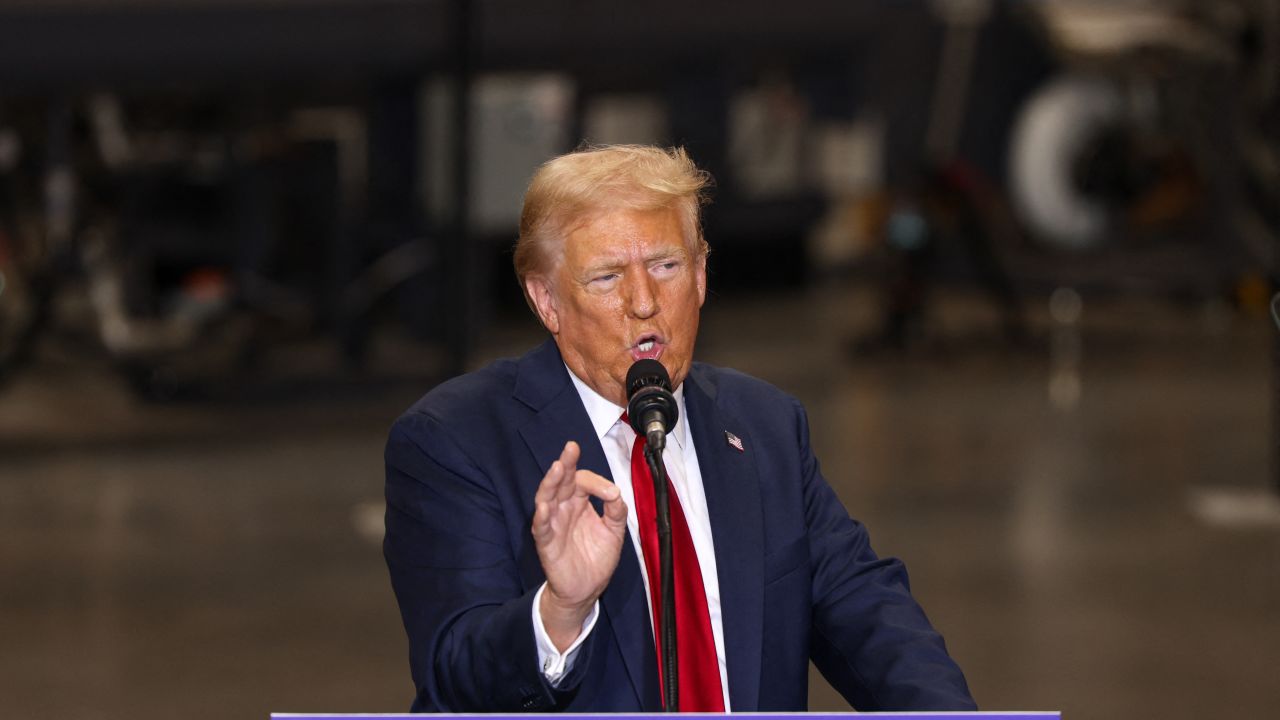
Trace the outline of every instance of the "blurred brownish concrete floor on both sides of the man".
{"label": "blurred brownish concrete floor on both sides of the man", "polygon": [[[1078,334],[1034,316],[1046,340],[1009,348],[961,295],[913,352],[851,359],[863,291],[713,296],[699,351],[805,401],[984,708],[1276,716],[1280,512],[1249,495],[1271,482],[1268,320],[1133,297],[1087,301]],[[484,336],[488,357],[539,333]],[[311,374],[156,405],[55,348],[0,391],[0,716],[404,710],[381,445],[431,363],[380,363],[326,380],[287,356]],[[820,680],[813,707],[846,708]]]}

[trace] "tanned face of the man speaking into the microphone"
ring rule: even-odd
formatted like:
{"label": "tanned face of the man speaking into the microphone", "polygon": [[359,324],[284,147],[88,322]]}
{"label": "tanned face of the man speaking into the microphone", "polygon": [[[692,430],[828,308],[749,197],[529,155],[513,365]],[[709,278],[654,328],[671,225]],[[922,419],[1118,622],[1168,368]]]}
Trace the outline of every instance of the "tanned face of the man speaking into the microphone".
{"label": "tanned face of the man speaking into the microphone", "polygon": [[689,252],[676,210],[589,215],[526,286],[564,364],[608,400],[627,404],[627,370],[641,357],[659,360],[673,388],[689,374],[707,260]]}

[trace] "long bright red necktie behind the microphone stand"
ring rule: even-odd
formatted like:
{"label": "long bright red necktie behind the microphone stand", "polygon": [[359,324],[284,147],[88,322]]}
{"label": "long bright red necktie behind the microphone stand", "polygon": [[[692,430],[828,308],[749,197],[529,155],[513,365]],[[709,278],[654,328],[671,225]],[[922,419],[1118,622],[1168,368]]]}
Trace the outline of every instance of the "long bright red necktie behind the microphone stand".
{"label": "long bright red necktie behind the microphone stand", "polygon": [[[622,421],[627,421],[626,414]],[[658,564],[658,511],[653,493],[653,474],[644,457],[645,437],[636,436],[631,446],[631,491],[635,493],[636,519],[640,523],[640,550],[649,575],[649,597],[653,600],[653,626],[658,648],[658,682],[662,683],[662,618],[660,570]],[[724,696],[719,682],[719,661],[712,637],[712,618],[707,610],[707,588],[698,565],[694,537],[680,507],[680,498],[667,480],[671,498],[671,555],[676,575],[676,655],[680,659],[680,711],[724,712]],[[666,696],[663,696],[666,697]]]}

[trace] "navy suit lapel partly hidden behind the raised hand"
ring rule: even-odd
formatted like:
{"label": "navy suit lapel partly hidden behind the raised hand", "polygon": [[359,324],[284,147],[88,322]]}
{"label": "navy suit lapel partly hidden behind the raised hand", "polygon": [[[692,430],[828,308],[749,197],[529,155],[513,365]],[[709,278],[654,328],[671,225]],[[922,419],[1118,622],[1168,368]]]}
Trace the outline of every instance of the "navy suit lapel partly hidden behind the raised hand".
{"label": "navy suit lapel partly hidden behind the raised hand", "polygon": [[[582,407],[582,400],[577,396],[553,341],[548,340],[520,360],[513,395],[516,400],[536,411],[534,418],[520,428],[520,436],[534,454],[539,468],[544,471],[550,468],[550,464],[559,459],[564,443],[572,439],[582,448],[579,468],[613,480],[604,448],[595,437],[591,419]],[[593,505],[596,510],[600,509],[598,501]],[[660,710],[658,655],[654,650],[640,565],[630,533],[623,539],[618,569],[614,570],[609,585],[600,597],[600,606],[618,643],[636,693],[637,706],[646,711]]]}

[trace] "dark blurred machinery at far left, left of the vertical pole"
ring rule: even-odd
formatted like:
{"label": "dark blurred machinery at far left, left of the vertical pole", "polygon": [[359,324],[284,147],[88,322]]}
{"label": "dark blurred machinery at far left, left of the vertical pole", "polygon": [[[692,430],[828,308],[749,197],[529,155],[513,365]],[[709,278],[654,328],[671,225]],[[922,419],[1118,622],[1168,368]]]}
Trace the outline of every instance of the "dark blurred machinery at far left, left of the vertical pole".
{"label": "dark blurred machinery at far left, left of the vertical pole", "polygon": [[358,363],[379,297],[430,264],[367,225],[352,109],[96,92],[0,120],[0,379],[46,329],[145,395],[321,329]]}

